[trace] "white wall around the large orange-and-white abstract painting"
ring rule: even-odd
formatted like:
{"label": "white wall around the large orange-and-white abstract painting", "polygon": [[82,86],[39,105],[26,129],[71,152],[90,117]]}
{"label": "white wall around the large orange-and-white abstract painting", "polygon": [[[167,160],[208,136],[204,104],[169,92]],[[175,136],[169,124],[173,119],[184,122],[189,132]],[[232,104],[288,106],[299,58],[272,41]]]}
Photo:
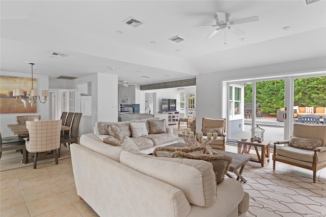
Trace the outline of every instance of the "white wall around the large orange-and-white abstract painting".
{"label": "white wall around the large orange-and-white abstract painting", "polygon": [[[19,77],[19,78],[31,78],[31,74],[28,73],[15,73],[11,71],[1,71],[2,76],[11,76],[11,77]],[[37,75],[33,73],[33,78],[37,79],[37,87],[38,93],[40,94],[42,90],[49,89],[49,78],[48,76]],[[31,78],[32,79],[32,78]],[[31,80],[31,88],[32,88],[32,80]],[[21,104],[21,106],[23,106]],[[15,117],[18,115],[41,115],[41,120],[49,119],[49,105],[48,102],[42,104],[40,101],[37,101],[37,113],[13,113],[13,114],[0,114],[0,130],[2,136],[12,136],[13,133],[7,127],[8,124],[16,124]]]}

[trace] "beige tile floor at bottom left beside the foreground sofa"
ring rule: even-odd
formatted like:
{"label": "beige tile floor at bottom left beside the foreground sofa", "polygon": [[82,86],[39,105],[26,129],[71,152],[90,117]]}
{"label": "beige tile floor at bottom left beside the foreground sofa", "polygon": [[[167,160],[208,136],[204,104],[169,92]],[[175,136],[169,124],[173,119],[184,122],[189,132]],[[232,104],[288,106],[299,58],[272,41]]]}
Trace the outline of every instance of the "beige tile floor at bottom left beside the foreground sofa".
{"label": "beige tile floor at bottom left beside the foreground sofa", "polygon": [[0,173],[0,216],[98,216],[80,200],[71,159]]}

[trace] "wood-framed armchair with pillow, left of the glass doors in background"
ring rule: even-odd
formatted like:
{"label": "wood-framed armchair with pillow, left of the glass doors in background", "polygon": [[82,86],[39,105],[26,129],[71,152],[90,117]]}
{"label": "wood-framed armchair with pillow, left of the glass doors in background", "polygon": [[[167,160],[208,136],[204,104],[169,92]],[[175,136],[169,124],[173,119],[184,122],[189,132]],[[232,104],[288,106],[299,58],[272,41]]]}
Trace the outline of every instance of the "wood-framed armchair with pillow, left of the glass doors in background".
{"label": "wood-framed armchair with pillow, left of the glass doors in background", "polygon": [[207,133],[218,133],[218,138],[209,143],[213,149],[225,151],[226,143],[226,119],[203,117],[202,129],[203,139],[207,139]]}

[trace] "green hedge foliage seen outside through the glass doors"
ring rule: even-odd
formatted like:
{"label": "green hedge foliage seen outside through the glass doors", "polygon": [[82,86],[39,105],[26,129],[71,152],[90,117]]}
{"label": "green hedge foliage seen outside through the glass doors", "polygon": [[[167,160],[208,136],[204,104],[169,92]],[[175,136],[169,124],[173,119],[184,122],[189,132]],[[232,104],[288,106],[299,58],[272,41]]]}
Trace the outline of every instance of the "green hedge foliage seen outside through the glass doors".
{"label": "green hedge foliage seen outside through the glass doors", "polygon": [[[256,102],[263,113],[276,115],[284,107],[284,80],[256,83]],[[294,106],[326,107],[326,77],[294,80]],[[252,84],[244,87],[244,103],[252,102]]]}

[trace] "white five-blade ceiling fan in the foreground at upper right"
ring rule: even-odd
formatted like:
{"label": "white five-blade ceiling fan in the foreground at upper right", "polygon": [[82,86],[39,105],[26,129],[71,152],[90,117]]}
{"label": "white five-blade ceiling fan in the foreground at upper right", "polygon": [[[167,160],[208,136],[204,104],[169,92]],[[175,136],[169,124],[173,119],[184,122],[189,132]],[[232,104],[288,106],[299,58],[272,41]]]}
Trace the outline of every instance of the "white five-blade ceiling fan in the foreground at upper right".
{"label": "white five-blade ceiling fan in the foreground at upper right", "polygon": [[216,33],[218,33],[220,30],[230,30],[234,34],[237,35],[242,35],[244,32],[233,25],[238,25],[241,23],[246,23],[246,22],[254,22],[258,21],[259,17],[258,16],[252,16],[252,17],[247,17],[247,18],[242,18],[242,19],[236,19],[236,20],[230,20],[231,15],[228,13],[224,12],[216,12],[215,20],[216,20],[216,25],[204,25],[204,26],[196,26],[193,28],[203,28],[203,27],[215,27],[215,30],[211,32],[205,39],[210,39],[212,38]]}

